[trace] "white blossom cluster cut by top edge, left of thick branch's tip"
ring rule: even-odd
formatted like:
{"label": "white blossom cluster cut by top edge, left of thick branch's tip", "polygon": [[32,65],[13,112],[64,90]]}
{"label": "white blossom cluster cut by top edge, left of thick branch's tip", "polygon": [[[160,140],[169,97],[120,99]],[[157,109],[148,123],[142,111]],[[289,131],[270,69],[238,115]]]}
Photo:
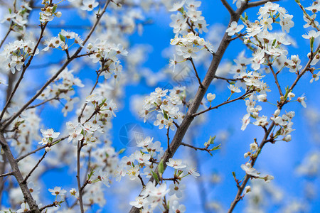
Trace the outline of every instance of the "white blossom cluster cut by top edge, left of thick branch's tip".
{"label": "white blossom cluster cut by top edge, left of thick branch's tip", "polygon": [[[193,30],[198,30],[199,33],[208,32],[206,20],[201,16],[202,12],[198,11],[198,7],[201,6],[201,1],[195,0],[182,0],[175,3],[169,11],[178,11],[176,15],[171,15],[172,22],[170,26],[174,28],[174,33],[186,34]],[[191,29],[189,29],[191,26]]]}

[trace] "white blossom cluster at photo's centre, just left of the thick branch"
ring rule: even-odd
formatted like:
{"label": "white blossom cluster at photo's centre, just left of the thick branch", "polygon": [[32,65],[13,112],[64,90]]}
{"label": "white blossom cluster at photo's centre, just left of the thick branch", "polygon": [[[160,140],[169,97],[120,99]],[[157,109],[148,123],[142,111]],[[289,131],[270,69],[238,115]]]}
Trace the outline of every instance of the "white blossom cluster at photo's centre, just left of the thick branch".
{"label": "white blossom cluster at photo's centre, just left of the thick branch", "polygon": [[159,126],[159,129],[175,130],[175,121],[181,123],[184,114],[179,111],[179,107],[182,107],[182,100],[184,99],[183,91],[185,87],[174,87],[170,89],[169,95],[168,89],[156,88],[155,92],[144,98],[144,106],[140,111],[140,115],[144,117],[144,122],[151,116],[152,111],[156,111],[156,121],[154,126]]}

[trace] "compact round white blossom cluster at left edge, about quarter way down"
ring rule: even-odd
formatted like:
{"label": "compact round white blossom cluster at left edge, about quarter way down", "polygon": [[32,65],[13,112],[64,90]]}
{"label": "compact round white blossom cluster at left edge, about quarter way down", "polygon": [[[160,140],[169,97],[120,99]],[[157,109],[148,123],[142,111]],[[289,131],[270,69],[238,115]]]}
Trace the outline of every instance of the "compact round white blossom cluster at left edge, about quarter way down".
{"label": "compact round white blossom cluster at left edge, about quarter way down", "polygon": [[4,55],[8,68],[14,74],[16,70],[21,70],[29,56],[39,53],[38,48],[35,50],[35,47],[36,44],[31,40],[15,40],[14,43],[4,45],[1,55]]}

